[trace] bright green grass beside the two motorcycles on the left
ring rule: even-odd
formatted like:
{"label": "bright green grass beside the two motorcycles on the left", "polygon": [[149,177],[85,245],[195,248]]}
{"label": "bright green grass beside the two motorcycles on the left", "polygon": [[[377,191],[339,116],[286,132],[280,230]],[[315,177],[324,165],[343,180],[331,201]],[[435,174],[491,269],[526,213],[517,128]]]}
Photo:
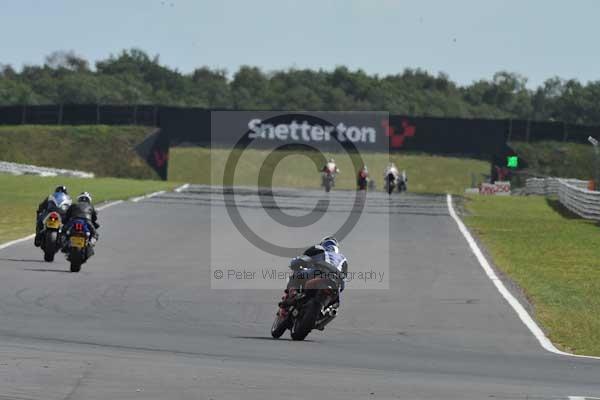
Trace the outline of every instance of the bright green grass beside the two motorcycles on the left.
{"label": "bright green grass beside the two motorcycles on the left", "polygon": [[42,178],[0,174],[0,243],[33,233],[38,204],[58,185],[66,185],[72,195],[88,191],[97,204],[172,189],[176,184],[117,178]]}

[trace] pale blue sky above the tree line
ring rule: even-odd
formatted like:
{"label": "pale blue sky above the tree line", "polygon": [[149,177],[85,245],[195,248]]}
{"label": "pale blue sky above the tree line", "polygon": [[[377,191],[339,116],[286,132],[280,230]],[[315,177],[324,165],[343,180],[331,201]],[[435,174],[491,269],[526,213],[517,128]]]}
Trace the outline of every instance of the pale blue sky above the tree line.
{"label": "pale blue sky above the tree line", "polygon": [[346,65],[447,73],[460,84],[508,70],[535,86],[600,79],[600,1],[19,0],[0,7],[0,63],[54,50],[98,60],[137,47],[183,72]]}

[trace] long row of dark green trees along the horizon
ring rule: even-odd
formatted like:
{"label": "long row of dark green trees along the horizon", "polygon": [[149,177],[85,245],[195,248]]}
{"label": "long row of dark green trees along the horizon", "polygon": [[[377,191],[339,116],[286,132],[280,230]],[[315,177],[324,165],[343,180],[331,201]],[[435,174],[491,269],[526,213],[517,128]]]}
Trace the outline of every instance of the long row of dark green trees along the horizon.
{"label": "long row of dark green trees along the horizon", "polygon": [[0,65],[0,105],[157,104],[220,109],[384,110],[394,114],[462,118],[519,118],[600,125],[600,80],[582,84],[559,77],[535,89],[501,71],[460,86],[444,73],[405,69],[369,75],[333,71],[265,72],[242,66],[200,67],[189,74],[161,65],[139,49],[123,50],[94,68],[73,52],[58,51],[43,65],[21,71]]}

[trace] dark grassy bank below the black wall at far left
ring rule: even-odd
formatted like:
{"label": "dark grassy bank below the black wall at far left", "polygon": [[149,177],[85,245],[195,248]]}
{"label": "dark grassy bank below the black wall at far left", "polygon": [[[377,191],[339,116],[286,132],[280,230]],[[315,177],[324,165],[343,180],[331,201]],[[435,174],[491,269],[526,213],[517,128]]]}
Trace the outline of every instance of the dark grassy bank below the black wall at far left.
{"label": "dark grassy bank below the black wall at far left", "polygon": [[143,126],[0,126],[0,160],[78,169],[97,176],[158,179],[134,146],[155,128]]}

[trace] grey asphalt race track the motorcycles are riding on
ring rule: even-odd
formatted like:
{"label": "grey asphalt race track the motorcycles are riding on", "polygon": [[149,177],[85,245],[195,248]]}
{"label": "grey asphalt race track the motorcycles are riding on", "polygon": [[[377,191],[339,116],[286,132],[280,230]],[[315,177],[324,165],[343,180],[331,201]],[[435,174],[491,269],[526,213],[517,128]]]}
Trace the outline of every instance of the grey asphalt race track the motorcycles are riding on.
{"label": "grey asphalt race track the motorcycles are riding on", "polygon": [[[282,190],[276,202],[301,214],[322,196]],[[343,222],[351,197],[330,194],[327,224]],[[264,218],[252,191],[240,203],[264,237],[300,245],[330,233]],[[253,251],[223,204],[192,186],[107,208],[79,274],[60,255],[44,263],[29,241],[0,250],[0,399],[600,396],[600,361],[542,349],[444,196],[369,193],[343,251],[351,269],[389,264],[389,289],[349,284],[339,317],[305,342],[270,338],[281,289],[211,289],[211,260],[285,265]]]}

